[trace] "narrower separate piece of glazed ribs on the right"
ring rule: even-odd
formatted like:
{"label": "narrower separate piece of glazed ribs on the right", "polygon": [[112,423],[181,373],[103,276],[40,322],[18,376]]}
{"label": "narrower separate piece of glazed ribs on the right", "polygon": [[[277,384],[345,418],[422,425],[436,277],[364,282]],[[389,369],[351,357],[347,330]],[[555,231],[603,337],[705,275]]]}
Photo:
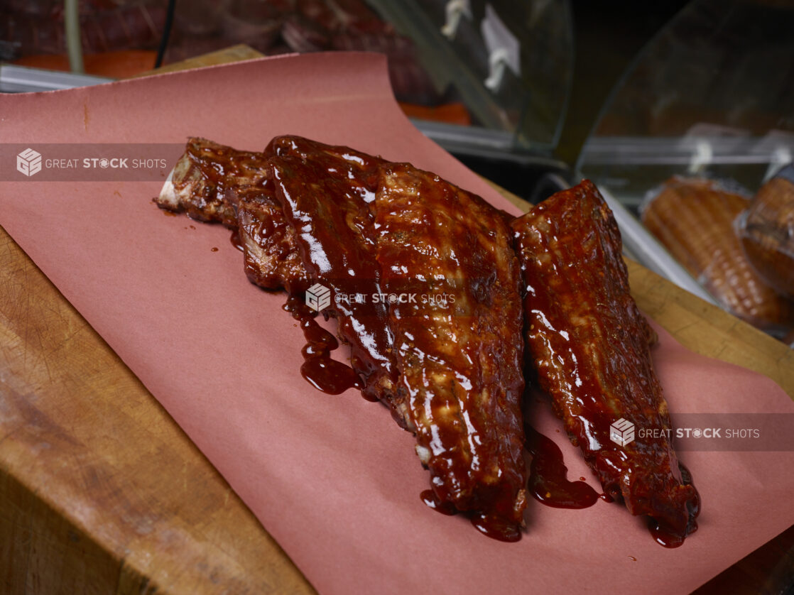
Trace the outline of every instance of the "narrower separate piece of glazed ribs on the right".
{"label": "narrower separate piece of glazed ribs on the right", "polygon": [[696,528],[700,500],[670,440],[610,440],[621,418],[670,428],[649,325],[629,294],[611,211],[585,180],[512,225],[526,290],[526,349],[541,388],[607,494],[632,514],[653,517],[661,534],[683,539]]}

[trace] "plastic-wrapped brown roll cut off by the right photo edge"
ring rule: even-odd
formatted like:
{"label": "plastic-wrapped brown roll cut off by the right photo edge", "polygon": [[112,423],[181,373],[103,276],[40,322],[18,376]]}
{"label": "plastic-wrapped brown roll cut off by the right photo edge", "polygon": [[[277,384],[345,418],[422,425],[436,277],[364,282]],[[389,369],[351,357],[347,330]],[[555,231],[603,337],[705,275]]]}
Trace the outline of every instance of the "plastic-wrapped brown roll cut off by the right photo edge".
{"label": "plastic-wrapped brown roll cut off by the right photo edge", "polygon": [[794,165],[777,172],[737,220],[747,259],[765,282],[794,298]]}

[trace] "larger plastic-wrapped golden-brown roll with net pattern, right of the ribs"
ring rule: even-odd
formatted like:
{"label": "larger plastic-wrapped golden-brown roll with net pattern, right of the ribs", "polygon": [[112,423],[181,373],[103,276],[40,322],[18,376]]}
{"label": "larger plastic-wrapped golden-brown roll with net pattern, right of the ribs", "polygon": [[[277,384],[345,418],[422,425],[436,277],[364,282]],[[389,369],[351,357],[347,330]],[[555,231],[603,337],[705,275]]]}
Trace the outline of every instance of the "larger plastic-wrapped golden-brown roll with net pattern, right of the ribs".
{"label": "larger plastic-wrapped golden-brown roll with net pattern, right of the ribs", "polygon": [[794,302],[750,265],[734,220],[750,199],[702,178],[670,178],[642,208],[642,222],[720,304],[743,320],[782,335]]}

